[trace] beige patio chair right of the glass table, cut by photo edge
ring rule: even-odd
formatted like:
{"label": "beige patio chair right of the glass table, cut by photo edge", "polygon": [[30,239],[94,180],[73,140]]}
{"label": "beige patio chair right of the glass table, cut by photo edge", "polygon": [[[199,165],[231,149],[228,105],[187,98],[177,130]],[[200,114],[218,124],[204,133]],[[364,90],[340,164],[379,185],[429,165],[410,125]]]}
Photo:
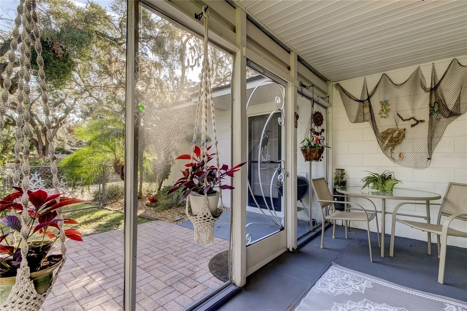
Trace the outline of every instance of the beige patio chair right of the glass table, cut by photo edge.
{"label": "beige patio chair right of the glass table, cut by photo edge", "polygon": [[[429,205],[441,205],[438,213],[438,220],[436,224],[430,222],[419,222],[409,221],[405,219],[397,218],[397,210],[404,204],[418,204],[426,205],[426,203],[414,203],[414,202],[402,202],[396,205],[396,208],[392,212],[392,228],[391,228],[391,246],[389,255],[394,256],[394,235],[396,232],[396,220],[412,228],[422,230],[428,233],[436,234],[438,238],[438,258],[439,258],[439,271],[438,271],[438,282],[443,284],[444,282],[444,269],[446,263],[446,244],[447,236],[459,236],[467,238],[467,233],[453,228],[449,228],[449,225],[453,219],[460,219],[467,221],[467,184],[449,183],[447,185],[446,194],[444,195],[443,202],[429,203]],[[428,209],[427,209],[428,212]],[[409,216],[404,214],[405,216]],[[447,216],[443,224],[441,224],[441,216]],[[415,216],[417,217],[417,216]]]}

